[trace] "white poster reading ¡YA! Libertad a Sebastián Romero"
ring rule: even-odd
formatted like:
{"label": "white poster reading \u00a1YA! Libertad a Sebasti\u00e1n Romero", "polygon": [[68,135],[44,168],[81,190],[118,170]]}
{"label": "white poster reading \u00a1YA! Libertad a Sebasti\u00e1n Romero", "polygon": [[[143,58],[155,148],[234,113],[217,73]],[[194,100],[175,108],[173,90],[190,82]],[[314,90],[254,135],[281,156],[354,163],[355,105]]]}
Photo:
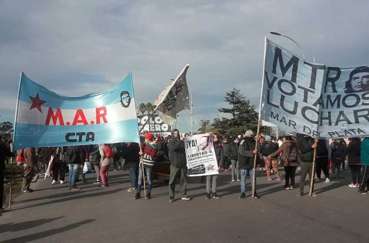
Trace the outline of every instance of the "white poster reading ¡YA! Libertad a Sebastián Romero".
{"label": "white poster reading \u00a1YA! Libertad a Sebasti\u00e1n Romero", "polygon": [[184,138],[184,144],[188,176],[218,174],[218,163],[210,133],[187,136]]}

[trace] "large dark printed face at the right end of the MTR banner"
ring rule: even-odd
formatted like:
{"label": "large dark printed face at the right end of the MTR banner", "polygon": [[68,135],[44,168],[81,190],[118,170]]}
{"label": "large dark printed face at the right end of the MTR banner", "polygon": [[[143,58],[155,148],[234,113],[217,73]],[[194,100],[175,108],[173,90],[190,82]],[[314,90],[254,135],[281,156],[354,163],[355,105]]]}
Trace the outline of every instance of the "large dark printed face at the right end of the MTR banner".
{"label": "large dark printed face at the right end of the MTR banner", "polygon": [[345,93],[369,91],[369,67],[356,67],[345,84]]}

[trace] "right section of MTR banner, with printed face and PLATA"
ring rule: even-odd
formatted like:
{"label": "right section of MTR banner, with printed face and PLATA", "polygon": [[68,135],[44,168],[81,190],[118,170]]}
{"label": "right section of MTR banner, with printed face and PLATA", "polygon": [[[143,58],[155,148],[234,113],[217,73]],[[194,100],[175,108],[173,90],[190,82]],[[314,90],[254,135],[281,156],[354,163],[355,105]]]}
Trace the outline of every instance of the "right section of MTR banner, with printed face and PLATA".
{"label": "right section of MTR banner, with printed face and PLATA", "polygon": [[369,134],[369,67],[327,67],[320,105],[321,138]]}

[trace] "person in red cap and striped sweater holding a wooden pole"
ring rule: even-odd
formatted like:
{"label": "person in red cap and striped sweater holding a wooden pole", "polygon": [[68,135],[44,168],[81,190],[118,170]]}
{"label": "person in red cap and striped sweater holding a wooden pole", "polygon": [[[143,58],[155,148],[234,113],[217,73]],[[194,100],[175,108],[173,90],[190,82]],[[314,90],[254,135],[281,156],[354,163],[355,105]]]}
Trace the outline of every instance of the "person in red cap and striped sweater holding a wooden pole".
{"label": "person in red cap and striped sweater holding a wooden pole", "polygon": [[[146,199],[151,198],[151,171],[152,167],[154,166],[156,160],[156,153],[158,153],[158,146],[154,140],[154,135],[152,133],[146,132],[145,134],[145,142],[144,144],[140,145],[142,147],[142,151],[139,152],[139,155],[142,156],[142,160],[144,162],[144,168],[146,171],[146,180],[148,184]],[[138,183],[137,183],[137,193],[133,199],[141,198],[141,185],[142,185],[142,162],[139,164],[139,171],[138,171]]]}

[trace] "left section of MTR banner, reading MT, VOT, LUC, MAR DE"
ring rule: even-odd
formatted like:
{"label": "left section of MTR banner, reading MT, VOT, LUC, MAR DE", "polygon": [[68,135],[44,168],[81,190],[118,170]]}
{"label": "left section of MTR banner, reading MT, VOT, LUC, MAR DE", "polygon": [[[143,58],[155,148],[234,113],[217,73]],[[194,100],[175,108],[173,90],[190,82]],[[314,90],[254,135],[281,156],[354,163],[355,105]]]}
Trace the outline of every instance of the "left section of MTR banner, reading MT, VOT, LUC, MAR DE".
{"label": "left section of MTR banner, reading MT, VOT, LUC, MAR DE", "polygon": [[309,63],[265,40],[261,119],[284,132],[318,136],[324,65]]}

